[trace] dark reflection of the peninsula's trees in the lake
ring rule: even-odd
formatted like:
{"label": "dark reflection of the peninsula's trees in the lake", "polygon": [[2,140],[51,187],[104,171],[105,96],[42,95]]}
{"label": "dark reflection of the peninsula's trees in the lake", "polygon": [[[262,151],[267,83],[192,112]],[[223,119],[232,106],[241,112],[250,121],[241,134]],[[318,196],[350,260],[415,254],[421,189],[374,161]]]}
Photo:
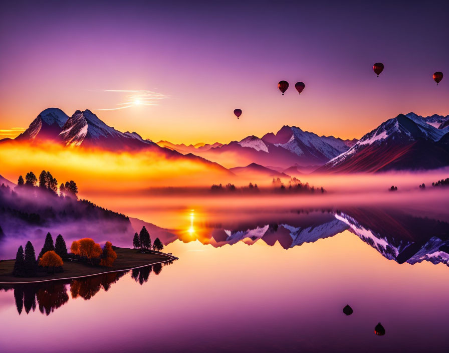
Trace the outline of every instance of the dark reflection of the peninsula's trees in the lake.
{"label": "dark reflection of the peninsula's trees in the lake", "polygon": [[151,272],[158,275],[163,265],[172,264],[173,261],[165,264],[155,264],[152,266],[140,267],[131,271],[112,272],[98,276],[79,278],[74,280],[62,280],[41,283],[23,283],[0,285],[0,290],[14,291],[14,300],[19,315],[24,311],[28,314],[35,311],[39,306],[39,311],[45,315],[50,315],[55,309],[63,306],[69,301],[67,287],[70,287],[72,299],[78,297],[89,300],[97,294],[101,288],[108,291],[111,285],[116,283],[126,273],[131,272],[131,277],[141,285],[148,281]]}

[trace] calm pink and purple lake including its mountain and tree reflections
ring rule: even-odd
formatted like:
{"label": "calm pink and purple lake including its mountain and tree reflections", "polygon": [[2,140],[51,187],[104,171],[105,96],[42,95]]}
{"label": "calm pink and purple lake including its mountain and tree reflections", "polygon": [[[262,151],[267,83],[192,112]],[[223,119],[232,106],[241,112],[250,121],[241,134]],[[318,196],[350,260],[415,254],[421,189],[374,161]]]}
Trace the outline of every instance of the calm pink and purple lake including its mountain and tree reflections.
{"label": "calm pink and purple lake including its mountain and tree reflections", "polygon": [[[169,228],[164,251],[179,260],[6,287],[0,346],[446,351],[449,211],[447,195],[431,197],[435,202],[388,196],[375,205],[326,207],[235,200],[141,206],[134,214]],[[346,304],[350,316],[342,312]],[[374,333],[378,322],[383,336]]]}

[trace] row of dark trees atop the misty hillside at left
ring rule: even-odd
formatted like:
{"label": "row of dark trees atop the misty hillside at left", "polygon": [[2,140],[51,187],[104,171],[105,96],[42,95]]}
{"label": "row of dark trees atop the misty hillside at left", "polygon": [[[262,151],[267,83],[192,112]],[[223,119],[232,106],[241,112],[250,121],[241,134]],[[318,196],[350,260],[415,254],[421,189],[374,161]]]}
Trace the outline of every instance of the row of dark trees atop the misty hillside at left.
{"label": "row of dark trees atop the misty hillside at left", "polygon": [[[24,186],[37,187],[37,184],[38,178],[32,171],[28,172],[25,175],[25,180],[23,176],[20,175],[17,181],[17,186],[19,188]],[[49,190],[54,194],[58,195],[58,181],[56,180],[56,178],[53,178],[53,175],[50,171],[42,170],[41,174],[39,175],[39,188]],[[78,198],[77,194],[78,194],[78,187],[73,180],[71,180],[70,182],[66,182],[65,184],[62,183],[59,187],[59,195],[61,197],[70,196],[77,199]]]}

